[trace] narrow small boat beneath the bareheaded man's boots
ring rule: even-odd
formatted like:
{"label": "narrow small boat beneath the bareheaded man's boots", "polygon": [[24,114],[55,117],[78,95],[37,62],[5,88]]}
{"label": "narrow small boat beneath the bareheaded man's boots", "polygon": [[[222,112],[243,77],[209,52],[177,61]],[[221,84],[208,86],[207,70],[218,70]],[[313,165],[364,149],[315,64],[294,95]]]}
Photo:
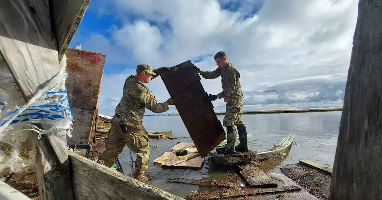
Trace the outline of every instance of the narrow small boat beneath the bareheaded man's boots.
{"label": "narrow small boat beneath the bareheaded man's boots", "polygon": [[[268,160],[269,158],[276,157],[277,155],[283,154],[293,143],[295,135],[287,136],[277,145],[269,148],[259,150],[257,152],[249,151],[244,153],[236,153],[234,155],[224,155],[214,152],[210,152],[212,159],[219,165],[235,165],[235,164],[245,164],[249,163],[253,158],[259,162],[263,160]],[[226,143],[227,144],[227,143]]]}

